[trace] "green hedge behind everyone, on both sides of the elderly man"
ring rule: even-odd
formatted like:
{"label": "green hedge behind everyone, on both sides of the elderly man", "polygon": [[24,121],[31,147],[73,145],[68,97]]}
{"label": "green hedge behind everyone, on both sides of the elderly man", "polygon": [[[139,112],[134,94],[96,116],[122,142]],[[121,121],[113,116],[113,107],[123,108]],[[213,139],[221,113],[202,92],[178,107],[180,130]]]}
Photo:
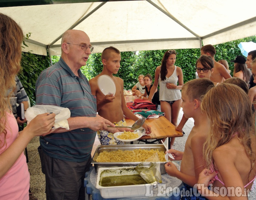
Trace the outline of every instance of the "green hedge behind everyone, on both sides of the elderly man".
{"label": "green hedge behind everyone, on both sides of the elderly man", "polygon": [[[215,45],[215,60],[225,59],[229,63],[231,75],[234,69],[234,60],[237,55],[241,55],[238,48],[240,42],[253,41],[256,43],[256,36],[247,37],[223,44]],[[170,47],[170,49],[172,49]],[[121,67],[118,71],[118,77],[124,80],[124,89],[131,89],[137,83],[137,77],[140,74],[151,74],[154,78],[155,69],[161,64],[162,57],[166,50],[156,51],[135,51],[121,52]],[[195,78],[195,63],[200,57],[200,49],[177,49],[177,59],[175,65],[182,68],[184,83]],[[84,75],[91,79],[102,71],[101,53],[90,55],[86,66],[81,68]],[[53,64],[59,60],[59,56],[52,56]],[[30,98],[31,105],[35,104],[35,82],[40,72],[50,66],[50,60],[47,56],[35,55],[32,53],[22,53],[21,66],[22,72],[19,78]]]}

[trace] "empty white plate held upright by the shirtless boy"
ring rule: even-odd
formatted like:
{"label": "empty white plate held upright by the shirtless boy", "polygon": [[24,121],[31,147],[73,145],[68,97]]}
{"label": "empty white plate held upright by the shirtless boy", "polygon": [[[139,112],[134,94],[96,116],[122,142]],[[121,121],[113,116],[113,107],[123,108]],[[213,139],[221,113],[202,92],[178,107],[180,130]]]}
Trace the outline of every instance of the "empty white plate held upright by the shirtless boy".
{"label": "empty white plate held upright by the shirtless boy", "polygon": [[110,78],[108,75],[102,75],[98,78],[98,86],[100,91],[104,94],[113,94],[116,93],[116,85],[112,78]]}

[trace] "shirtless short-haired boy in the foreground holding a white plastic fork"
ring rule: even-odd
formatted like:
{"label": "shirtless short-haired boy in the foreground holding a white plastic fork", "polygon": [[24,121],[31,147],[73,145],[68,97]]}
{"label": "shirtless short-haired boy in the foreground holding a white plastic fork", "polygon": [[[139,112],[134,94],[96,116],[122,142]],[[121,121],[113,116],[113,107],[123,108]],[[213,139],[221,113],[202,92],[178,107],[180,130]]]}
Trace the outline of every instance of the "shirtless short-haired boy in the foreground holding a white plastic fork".
{"label": "shirtless short-haired boy in the foreground holding a white plastic fork", "polygon": [[[213,87],[214,83],[208,78],[188,81],[182,87],[181,107],[186,118],[194,119],[194,126],[187,138],[184,152],[175,149],[168,151],[173,154],[175,160],[181,160],[180,171],[172,162],[165,164],[165,170],[170,176],[182,180],[185,190],[193,188],[197,183],[199,173],[205,168],[203,144],[206,141],[209,127],[206,114],[202,113],[200,106],[203,96]],[[184,199],[186,198],[184,197]],[[203,197],[203,199],[205,198]]]}

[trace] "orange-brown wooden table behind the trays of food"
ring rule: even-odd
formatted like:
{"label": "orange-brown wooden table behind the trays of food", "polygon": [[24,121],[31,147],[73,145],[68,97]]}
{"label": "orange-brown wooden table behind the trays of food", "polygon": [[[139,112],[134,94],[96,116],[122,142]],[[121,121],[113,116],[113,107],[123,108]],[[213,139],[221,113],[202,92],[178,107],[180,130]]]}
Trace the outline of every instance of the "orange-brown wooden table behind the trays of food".
{"label": "orange-brown wooden table behind the trays of food", "polygon": [[[131,119],[125,119],[126,124],[133,125],[134,121]],[[151,133],[149,135],[143,135],[139,140],[145,143],[155,143],[160,141],[163,138],[167,138],[169,140],[170,147],[170,138],[171,137],[182,137],[183,133],[175,130],[175,126],[169,122],[164,116],[160,116],[159,118],[151,118],[146,119],[146,124],[151,126]],[[153,141],[147,141],[152,140]]]}

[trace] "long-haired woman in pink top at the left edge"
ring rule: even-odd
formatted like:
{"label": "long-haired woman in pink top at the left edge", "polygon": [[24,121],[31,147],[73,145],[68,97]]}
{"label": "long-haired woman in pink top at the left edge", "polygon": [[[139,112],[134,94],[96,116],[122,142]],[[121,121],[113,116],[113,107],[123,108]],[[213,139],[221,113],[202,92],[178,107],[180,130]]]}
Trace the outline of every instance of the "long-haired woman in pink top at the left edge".
{"label": "long-haired woman in pink top at the left edge", "polygon": [[13,19],[0,13],[0,35],[0,199],[28,200],[29,172],[23,151],[33,137],[52,132],[55,114],[38,115],[18,132],[9,97],[4,94],[16,86],[23,33]]}

